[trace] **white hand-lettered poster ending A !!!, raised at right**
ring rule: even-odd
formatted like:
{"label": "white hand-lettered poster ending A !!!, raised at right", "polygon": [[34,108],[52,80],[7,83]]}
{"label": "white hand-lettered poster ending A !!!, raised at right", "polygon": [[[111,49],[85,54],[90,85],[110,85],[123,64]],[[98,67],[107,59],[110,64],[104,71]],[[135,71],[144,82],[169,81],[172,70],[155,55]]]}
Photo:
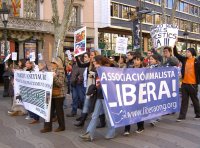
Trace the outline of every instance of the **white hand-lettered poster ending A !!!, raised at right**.
{"label": "white hand-lettered poster ending A !!!, raised at right", "polygon": [[155,49],[163,46],[174,47],[178,38],[178,27],[171,24],[154,25],[151,28],[151,38]]}

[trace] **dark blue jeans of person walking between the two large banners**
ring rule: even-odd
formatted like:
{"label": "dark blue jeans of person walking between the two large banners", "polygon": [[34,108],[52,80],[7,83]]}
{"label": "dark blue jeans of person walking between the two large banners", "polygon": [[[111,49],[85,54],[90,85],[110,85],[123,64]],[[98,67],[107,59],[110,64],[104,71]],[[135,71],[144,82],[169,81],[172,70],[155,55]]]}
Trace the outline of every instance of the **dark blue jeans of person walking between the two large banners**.
{"label": "dark blue jeans of person walking between the two large banners", "polygon": [[77,84],[72,87],[72,114],[77,113],[79,101],[84,103],[86,88],[83,84]]}

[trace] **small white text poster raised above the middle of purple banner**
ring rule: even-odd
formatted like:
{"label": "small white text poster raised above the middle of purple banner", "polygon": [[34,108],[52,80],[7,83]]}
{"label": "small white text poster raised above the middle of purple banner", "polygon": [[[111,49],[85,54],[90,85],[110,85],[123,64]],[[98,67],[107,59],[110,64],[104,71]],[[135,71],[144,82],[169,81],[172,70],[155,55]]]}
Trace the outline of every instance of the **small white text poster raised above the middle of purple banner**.
{"label": "small white text poster raised above the middle of purple banner", "polygon": [[126,54],[128,46],[128,38],[117,37],[116,39],[116,53]]}

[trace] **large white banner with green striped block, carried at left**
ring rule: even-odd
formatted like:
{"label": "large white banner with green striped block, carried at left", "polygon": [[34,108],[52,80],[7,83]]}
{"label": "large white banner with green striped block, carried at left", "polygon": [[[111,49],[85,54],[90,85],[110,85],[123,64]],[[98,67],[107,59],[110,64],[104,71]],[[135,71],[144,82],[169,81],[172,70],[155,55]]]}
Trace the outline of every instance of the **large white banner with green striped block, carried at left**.
{"label": "large white banner with green striped block, carried at left", "polygon": [[53,72],[14,72],[14,95],[24,107],[50,121]]}

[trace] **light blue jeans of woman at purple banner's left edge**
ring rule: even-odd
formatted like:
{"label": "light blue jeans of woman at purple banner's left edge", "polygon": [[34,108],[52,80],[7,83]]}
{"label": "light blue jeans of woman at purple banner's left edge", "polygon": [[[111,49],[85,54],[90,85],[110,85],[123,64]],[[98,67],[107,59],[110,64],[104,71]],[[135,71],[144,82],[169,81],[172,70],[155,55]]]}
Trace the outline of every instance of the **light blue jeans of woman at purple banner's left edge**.
{"label": "light blue jeans of woman at purple banner's left edge", "polygon": [[94,139],[94,133],[95,133],[95,129],[97,126],[97,122],[99,120],[99,115],[100,112],[104,110],[105,115],[106,115],[106,123],[107,123],[107,134],[106,134],[106,138],[113,138],[115,136],[115,128],[111,127],[110,124],[110,120],[109,120],[109,116],[108,116],[108,112],[107,112],[107,108],[106,108],[106,104],[104,102],[103,99],[97,99],[96,104],[95,104],[95,108],[94,108],[94,112],[92,114],[92,119],[87,127],[87,133],[90,134],[91,139]]}

